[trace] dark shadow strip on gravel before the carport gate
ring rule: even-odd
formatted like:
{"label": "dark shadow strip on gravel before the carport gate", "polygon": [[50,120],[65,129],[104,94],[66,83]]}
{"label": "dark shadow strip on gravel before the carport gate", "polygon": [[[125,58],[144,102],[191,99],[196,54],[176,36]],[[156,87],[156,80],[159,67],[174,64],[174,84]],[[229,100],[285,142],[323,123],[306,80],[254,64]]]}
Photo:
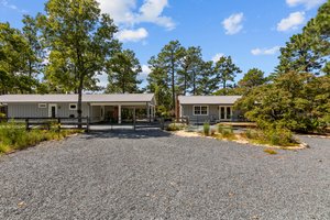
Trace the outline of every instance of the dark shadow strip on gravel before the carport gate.
{"label": "dark shadow strip on gravel before the carport gate", "polygon": [[170,133],[158,129],[143,129],[143,130],[112,130],[112,131],[94,131],[84,135],[84,139],[150,139],[150,138],[168,138]]}

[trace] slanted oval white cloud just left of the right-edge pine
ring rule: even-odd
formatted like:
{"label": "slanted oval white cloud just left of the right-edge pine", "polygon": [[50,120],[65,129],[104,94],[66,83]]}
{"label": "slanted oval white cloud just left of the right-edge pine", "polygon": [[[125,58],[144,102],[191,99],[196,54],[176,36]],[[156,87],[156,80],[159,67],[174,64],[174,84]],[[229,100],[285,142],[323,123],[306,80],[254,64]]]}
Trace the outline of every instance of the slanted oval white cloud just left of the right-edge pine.
{"label": "slanted oval white cloud just left of the right-edge pine", "polygon": [[282,19],[277,24],[277,31],[284,32],[288,30],[296,30],[305,22],[305,12],[297,11],[290,13],[288,18]]}

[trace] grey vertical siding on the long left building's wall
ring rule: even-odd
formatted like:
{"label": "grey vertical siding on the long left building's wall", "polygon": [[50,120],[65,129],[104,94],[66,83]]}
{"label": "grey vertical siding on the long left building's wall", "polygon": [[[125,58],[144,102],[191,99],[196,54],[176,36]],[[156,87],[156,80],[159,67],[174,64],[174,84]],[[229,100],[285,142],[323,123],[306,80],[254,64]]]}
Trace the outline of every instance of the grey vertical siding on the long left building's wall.
{"label": "grey vertical siding on the long left building's wall", "polygon": [[[56,103],[57,117],[68,118],[70,114],[77,117],[77,110],[69,110],[69,103]],[[82,117],[89,116],[89,106],[82,103]],[[38,108],[38,103],[9,103],[8,105],[9,118],[47,118],[48,103],[46,108]]]}

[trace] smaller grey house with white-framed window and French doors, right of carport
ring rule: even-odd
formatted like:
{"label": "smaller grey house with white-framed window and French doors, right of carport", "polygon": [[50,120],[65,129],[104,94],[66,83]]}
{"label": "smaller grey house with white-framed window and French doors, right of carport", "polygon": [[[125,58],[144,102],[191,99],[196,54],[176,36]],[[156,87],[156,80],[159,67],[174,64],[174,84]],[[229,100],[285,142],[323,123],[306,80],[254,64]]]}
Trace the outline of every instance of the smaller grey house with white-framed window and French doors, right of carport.
{"label": "smaller grey house with white-framed window and French doors, right of carport", "polygon": [[179,96],[180,118],[187,117],[193,123],[238,121],[240,112],[233,110],[241,96]]}

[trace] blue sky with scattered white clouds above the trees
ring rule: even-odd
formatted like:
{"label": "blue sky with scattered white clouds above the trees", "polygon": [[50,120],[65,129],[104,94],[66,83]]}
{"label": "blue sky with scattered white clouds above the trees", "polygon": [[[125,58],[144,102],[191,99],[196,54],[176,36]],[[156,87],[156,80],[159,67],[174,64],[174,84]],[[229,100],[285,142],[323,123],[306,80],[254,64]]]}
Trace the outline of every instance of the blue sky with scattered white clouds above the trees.
{"label": "blue sky with scattered white clouds above the trees", "polygon": [[[43,12],[45,0],[0,0],[0,21],[22,28],[24,13]],[[204,58],[232,56],[245,73],[257,67],[270,74],[278,48],[301,31],[326,0],[99,0],[120,28],[117,37],[143,65],[172,40],[201,46]],[[266,3],[265,3],[266,2]],[[243,74],[242,74],[243,75]],[[238,76],[237,79],[240,79]],[[106,77],[101,77],[102,85]]]}

